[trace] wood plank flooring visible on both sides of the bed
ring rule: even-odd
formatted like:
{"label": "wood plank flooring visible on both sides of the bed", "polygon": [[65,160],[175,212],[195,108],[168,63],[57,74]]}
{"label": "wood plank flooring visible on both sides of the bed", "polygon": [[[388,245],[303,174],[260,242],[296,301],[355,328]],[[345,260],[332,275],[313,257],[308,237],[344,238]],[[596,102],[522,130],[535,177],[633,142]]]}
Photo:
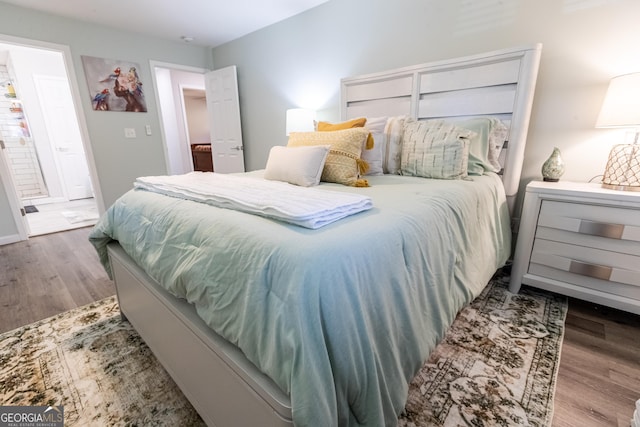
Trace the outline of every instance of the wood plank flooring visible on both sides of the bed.
{"label": "wood plank flooring visible on both sides of the bed", "polygon": [[[0,333],[115,293],[90,228],[0,246]],[[570,299],[553,427],[628,427],[640,399],[640,316]]]}

